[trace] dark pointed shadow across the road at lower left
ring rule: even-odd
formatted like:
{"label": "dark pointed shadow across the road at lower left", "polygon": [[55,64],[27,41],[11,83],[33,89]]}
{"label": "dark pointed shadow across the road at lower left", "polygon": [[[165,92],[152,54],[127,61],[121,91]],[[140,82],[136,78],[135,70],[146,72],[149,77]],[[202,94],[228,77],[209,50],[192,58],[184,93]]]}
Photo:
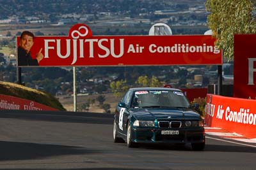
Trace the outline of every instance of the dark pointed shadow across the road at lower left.
{"label": "dark pointed shadow across the road at lower left", "polygon": [[58,155],[79,155],[100,153],[97,150],[65,145],[47,145],[38,143],[23,143],[0,141],[0,161],[28,160]]}

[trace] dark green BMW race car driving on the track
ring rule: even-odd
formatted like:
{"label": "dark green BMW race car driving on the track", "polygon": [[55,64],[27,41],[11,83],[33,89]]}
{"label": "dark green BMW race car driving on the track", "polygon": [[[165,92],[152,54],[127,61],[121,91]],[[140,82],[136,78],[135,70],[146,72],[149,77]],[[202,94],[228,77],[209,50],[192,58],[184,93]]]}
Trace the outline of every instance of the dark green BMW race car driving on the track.
{"label": "dark green BMW race car driving on the track", "polygon": [[184,93],[171,88],[132,88],[116,106],[114,142],[191,144],[204,150],[204,121]]}

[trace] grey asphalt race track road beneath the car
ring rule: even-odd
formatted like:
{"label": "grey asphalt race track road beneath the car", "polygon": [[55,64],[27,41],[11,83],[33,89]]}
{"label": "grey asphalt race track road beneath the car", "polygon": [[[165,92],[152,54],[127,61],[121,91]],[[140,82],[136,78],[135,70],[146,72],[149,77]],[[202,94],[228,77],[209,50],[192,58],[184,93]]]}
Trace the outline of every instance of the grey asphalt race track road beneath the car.
{"label": "grey asphalt race track road beneath the car", "polygon": [[[256,147],[207,136],[190,146],[113,143],[113,115],[0,111],[0,169],[256,169]],[[252,145],[252,146],[251,146]]]}

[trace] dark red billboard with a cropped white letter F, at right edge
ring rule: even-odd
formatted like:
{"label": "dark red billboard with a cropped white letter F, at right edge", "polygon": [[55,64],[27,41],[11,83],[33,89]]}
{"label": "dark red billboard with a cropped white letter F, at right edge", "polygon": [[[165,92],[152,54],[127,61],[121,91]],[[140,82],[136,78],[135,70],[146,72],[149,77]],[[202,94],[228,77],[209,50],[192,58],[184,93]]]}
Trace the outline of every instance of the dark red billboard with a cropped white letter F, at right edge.
{"label": "dark red billboard with a cropped white letter F, at right edge", "polygon": [[234,36],[234,97],[256,99],[256,34]]}

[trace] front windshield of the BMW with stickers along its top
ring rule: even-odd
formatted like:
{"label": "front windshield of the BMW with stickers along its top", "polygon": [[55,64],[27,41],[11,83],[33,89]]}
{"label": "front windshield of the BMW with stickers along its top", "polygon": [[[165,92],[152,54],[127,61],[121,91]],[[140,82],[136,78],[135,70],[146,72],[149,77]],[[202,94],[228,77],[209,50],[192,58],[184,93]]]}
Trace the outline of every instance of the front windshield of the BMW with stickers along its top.
{"label": "front windshield of the BMW with stickers along its top", "polygon": [[183,92],[175,90],[141,90],[134,92],[131,108],[189,108]]}

